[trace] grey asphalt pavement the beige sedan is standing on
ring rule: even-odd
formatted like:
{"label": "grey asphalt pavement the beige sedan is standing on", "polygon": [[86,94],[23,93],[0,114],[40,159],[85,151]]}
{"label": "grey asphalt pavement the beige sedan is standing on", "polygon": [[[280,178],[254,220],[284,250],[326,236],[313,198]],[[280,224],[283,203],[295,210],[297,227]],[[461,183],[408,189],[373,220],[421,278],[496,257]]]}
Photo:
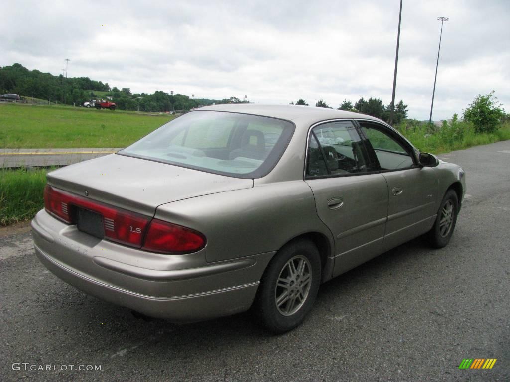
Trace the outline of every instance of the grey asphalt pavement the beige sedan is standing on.
{"label": "grey asphalt pavement the beige sedan is standing on", "polygon": [[[135,318],[48,272],[30,233],[0,237],[0,380],[510,380],[510,141],[441,157],[468,184],[448,247],[415,239],[323,284],[280,336],[249,313]],[[458,369],[466,358],[497,361]]]}

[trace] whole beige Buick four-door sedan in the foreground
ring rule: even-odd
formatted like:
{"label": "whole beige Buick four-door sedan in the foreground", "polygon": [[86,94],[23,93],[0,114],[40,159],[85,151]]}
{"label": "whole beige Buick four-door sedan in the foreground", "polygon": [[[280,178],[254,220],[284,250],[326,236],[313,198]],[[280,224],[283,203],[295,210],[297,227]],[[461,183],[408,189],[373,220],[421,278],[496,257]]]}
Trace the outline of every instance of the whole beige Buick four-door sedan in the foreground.
{"label": "whole beige Buick four-door sedan in the foreground", "polygon": [[376,118],[254,104],[200,108],[47,179],[35,252],[62,280],[174,322],[253,306],[276,333],[321,283],[419,235],[444,247],[466,189]]}

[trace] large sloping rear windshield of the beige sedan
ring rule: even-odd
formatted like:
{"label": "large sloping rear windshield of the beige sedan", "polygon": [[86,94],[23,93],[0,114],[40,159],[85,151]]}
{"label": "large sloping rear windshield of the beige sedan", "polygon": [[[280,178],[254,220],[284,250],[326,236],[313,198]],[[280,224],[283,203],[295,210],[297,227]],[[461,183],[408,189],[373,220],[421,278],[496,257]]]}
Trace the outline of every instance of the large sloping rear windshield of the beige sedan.
{"label": "large sloping rear windshield of the beige sedan", "polygon": [[238,178],[260,178],[281,158],[291,122],[246,114],[197,111],[163,125],[118,152]]}

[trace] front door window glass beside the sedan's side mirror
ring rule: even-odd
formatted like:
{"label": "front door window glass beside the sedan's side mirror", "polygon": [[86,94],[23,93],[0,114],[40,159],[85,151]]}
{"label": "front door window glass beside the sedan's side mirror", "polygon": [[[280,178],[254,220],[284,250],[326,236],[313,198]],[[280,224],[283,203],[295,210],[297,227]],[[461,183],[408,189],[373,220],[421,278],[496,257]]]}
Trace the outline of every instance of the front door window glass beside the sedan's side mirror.
{"label": "front door window glass beside the sedan's side mirror", "polygon": [[385,131],[384,128],[367,122],[360,122],[361,130],[373,149],[381,170],[398,170],[414,165],[410,149]]}

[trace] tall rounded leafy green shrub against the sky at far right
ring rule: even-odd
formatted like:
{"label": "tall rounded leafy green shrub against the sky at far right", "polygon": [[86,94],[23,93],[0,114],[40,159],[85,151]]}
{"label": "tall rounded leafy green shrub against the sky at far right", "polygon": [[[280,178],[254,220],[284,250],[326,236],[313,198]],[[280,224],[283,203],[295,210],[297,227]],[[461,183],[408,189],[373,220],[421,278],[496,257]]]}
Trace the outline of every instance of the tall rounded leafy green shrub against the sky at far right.
{"label": "tall rounded leafy green shrub against the sky at far right", "polygon": [[463,118],[471,122],[476,133],[494,132],[499,123],[505,117],[503,110],[499,108],[501,103],[494,96],[494,90],[487,95],[480,95],[464,111]]}

